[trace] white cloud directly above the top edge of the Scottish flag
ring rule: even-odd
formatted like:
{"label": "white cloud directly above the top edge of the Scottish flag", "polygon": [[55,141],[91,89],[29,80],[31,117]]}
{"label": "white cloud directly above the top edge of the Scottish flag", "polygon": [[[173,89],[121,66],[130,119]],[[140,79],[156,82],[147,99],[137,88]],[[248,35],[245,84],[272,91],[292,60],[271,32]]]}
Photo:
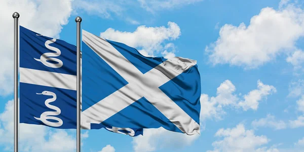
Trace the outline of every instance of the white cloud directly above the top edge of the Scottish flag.
{"label": "white cloud directly above the top edge of the Scottish flag", "polygon": [[[164,41],[176,40],[179,35],[180,28],[174,22],[168,22],[168,27],[146,27],[142,25],[138,26],[134,32],[122,32],[113,28],[108,28],[100,33],[100,36],[105,39],[124,43],[130,47],[137,48],[141,53],[144,52],[150,56],[154,56],[155,53],[164,52],[172,48],[172,44],[164,44]],[[165,45],[165,47],[163,45]],[[171,51],[171,53],[174,52]],[[172,56],[172,54],[170,56]]]}

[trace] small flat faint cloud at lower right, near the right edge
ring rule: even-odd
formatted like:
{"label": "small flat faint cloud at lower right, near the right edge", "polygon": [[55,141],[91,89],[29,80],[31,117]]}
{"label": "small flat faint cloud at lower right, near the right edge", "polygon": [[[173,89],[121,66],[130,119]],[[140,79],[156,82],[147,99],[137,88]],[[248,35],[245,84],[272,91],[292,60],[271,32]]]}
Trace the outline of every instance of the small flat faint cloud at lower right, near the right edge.
{"label": "small flat faint cloud at lower right, near the right edge", "polygon": [[275,130],[285,129],[287,127],[286,123],[282,120],[276,120],[274,116],[267,115],[266,118],[261,118],[259,120],[254,120],[251,125],[254,128],[257,127],[271,127]]}

